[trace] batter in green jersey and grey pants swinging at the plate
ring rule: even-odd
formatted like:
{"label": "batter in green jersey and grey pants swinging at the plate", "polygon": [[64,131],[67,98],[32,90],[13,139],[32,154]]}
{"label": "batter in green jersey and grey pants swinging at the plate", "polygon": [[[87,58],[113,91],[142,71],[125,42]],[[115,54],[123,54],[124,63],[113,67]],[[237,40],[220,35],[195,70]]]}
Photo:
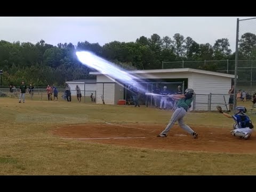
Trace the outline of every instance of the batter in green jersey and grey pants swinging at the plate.
{"label": "batter in green jersey and grey pants swinging at the plate", "polygon": [[178,121],[181,128],[192,135],[194,139],[198,137],[198,134],[183,122],[183,117],[187,114],[187,111],[191,106],[191,102],[193,101],[193,95],[193,89],[186,89],[184,94],[170,95],[171,98],[178,100],[177,108],[173,112],[171,120],[166,126],[165,130],[157,135],[157,137],[166,137],[167,133],[170,131],[176,121]]}

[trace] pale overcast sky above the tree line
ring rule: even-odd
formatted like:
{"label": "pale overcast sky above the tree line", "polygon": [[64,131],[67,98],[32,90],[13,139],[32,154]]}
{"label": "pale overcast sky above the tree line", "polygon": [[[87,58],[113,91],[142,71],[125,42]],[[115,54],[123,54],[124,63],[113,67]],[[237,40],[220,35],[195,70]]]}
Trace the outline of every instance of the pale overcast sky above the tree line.
{"label": "pale overcast sky above the tree line", "polygon": [[[236,21],[254,17],[0,17],[0,40],[47,44],[88,41],[101,46],[112,42],[135,42],[141,36],[173,37],[179,33],[197,43],[213,45],[228,38],[235,51]],[[243,21],[241,30],[256,34],[256,19]],[[252,27],[255,26],[255,27]],[[255,31],[254,31],[255,30]]]}

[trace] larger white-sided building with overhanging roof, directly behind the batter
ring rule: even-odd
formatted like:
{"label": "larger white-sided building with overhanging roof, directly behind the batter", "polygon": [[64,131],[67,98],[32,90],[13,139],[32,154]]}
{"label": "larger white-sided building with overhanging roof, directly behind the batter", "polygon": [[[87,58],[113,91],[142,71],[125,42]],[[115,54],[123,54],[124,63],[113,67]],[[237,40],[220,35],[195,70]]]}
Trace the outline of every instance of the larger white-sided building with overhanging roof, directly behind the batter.
{"label": "larger white-sided building with overhanging roof, directly behind the batter", "polygon": [[[141,79],[147,79],[148,81],[150,79],[169,79],[172,82],[172,79],[183,79],[186,81],[187,87],[194,89],[196,93],[192,108],[195,110],[209,110],[210,108],[213,110],[217,105],[226,109],[225,104],[223,104],[225,103],[223,95],[228,105],[228,91],[231,88],[232,78],[235,78],[235,75],[190,68],[133,70],[128,73],[140,76]],[[105,76],[107,74],[95,71],[90,72],[90,74],[97,76],[96,103],[102,103],[101,95],[104,95],[105,103],[111,105],[116,105],[119,99],[125,99],[124,89],[116,83],[117,81]],[[185,89],[187,87],[185,86]],[[210,93],[212,93],[211,96]],[[209,105],[210,99],[211,105]]]}

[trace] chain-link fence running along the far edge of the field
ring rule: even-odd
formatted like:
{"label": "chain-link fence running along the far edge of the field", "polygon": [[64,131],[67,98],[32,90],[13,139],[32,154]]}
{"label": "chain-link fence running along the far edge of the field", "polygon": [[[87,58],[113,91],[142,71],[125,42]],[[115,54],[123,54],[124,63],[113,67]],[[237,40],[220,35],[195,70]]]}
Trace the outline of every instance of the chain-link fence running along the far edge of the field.
{"label": "chain-link fence running along the far edge of the field", "polygon": [[[108,93],[108,86],[113,85],[116,83],[98,83],[101,84],[104,87],[104,90],[98,89],[99,92],[102,92],[102,96],[104,98],[109,97]],[[105,84],[103,86],[103,84]],[[181,86],[182,93],[185,90],[185,82],[154,82],[154,83],[145,83],[143,86],[147,87],[147,92],[154,92],[154,89],[156,87],[156,84],[163,89],[163,86],[167,86],[170,93],[175,93],[177,91],[177,87]],[[127,85],[123,86],[123,90],[120,90],[123,94],[123,97],[125,98],[125,105],[133,105],[132,100],[132,93],[125,89]],[[124,92],[123,92],[124,91]],[[67,93],[65,93],[65,89],[58,89],[58,101],[71,101],[71,102],[78,102],[76,90],[70,90],[71,93],[71,100],[68,98]],[[93,97],[91,98],[91,94],[93,93]],[[112,92],[113,93],[113,92]],[[246,91],[238,91],[238,94],[236,94],[236,101],[244,102],[242,105],[245,105],[246,107],[252,109],[253,111],[256,110],[256,106],[253,106],[253,94],[256,94],[256,91],[254,92],[246,92]],[[10,92],[10,89],[2,88],[0,89],[0,97],[9,97],[12,99],[19,99],[20,91],[19,89],[14,89],[12,92]],[[95,95],[95,96],[94,96]],[[26,93],[26,100],[33,100],[33,101],[57,101],[57,98],[54,97],[54,92],[50,95],[47,94],[46,89],[34,89],[33,94],[29,93],[27,91]],[[101,95],[97,95],[97,91],[89,91],[89,90],[83,90],[81,91],[81,102],[85,103],[95,103],[97,101],[97,98],[101,99]],[[229,110],[229,94],[195,94],[194,95],[194,101],[193,101],[193,110],[194,111],[214,111],[216,110],[216,106],[221,106],[223,110]],[[152,96],[146,96],[145,93],[141,92],[139,94],[139,103],[140,105],[146,105],[147,107],[160,107],[161,104],[161,97],[154,98]],[[167,100],[166,109],[173,109],[175,106],[175,101],[172,99]],[[163,108],[163,106],[162,106]]]}

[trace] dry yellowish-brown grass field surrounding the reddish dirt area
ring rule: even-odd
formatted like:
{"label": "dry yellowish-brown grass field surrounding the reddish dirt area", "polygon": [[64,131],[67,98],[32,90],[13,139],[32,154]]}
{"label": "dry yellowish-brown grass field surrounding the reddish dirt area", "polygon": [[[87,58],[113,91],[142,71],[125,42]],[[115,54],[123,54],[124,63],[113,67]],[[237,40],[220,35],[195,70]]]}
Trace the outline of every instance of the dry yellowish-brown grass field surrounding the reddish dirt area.
{"label": "dry yellowish-brown grass field surrounding the reddish dirt area", "polygon": [[[239,105],[251,106],[251,102]],[[132,148],[64,140],[56,127],[86,123],[166,124],[171,111],[133,106],[0,98],[1,175],[255,175],[256,154]],[[256,115],[250,116],[256,122]],[[216,112],[188,113],[189,125],[230,128]],[[254,123],[255,124],[255,123]],[[254,135],[254,133],[253,133]],[[187,138],[191,139],[191,138]],[[218,139],[217,139],[218,141]],[[247,141],[243,141],[247,142]],[[214,145],[214,144],[213,144]],[[239,143],[238,143],[239,145]]]}

